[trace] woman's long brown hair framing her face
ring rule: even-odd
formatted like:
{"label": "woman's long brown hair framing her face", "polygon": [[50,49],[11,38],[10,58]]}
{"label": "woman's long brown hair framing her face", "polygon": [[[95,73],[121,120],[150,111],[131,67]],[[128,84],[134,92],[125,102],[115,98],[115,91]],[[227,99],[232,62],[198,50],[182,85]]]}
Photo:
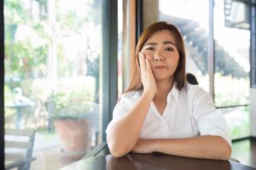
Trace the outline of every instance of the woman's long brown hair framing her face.
{"label": "woman's long brown hair framing her face", "polygon": [[143,89],[143,82],[141,80],[141,71],[138,60],[138,53],[142,50],[143,45],[147,42],[148,38],[151,37],[156,31],[168,30],[172,33],[172,36],[175,39],[175,43],[177,44],[177,51],[179,54],[179,60],[177,64],[177,69],[174,72],[174,81],[176,82],[176,87],[178,90],[181,90],[184,87],[185,82],[185,65],[186,65],[186,54],[184,48],[183,37],[180,31],[176,26],[172,24],[168,24],[166,22],[156,22],[148,28],[146,28],[142,35],[139,37],[136,47],[135,56],[135,66],[132,71],[132,77],[129,87],[125,90],[125,92],[136,91]]}

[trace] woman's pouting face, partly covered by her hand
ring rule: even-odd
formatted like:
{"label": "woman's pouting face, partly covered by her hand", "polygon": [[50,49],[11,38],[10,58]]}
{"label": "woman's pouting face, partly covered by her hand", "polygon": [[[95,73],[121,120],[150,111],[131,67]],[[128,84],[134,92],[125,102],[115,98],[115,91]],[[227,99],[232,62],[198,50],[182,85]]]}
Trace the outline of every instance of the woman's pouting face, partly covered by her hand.
{"label": "woman's pouting face, partly covered by her hand", "polygon": [[144,43],[142,51],[149,60],[156,81],[173,77],[179,54],[176,41],[168,30],[155,32]]}

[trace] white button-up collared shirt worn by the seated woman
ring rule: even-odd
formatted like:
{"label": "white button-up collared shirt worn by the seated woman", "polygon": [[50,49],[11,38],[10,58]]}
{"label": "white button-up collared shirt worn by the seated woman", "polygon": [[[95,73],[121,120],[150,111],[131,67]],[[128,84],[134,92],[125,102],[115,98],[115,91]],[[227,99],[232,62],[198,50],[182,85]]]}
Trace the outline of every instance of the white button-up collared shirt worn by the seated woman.
{"label": "white button-up collared shirt worn by the seated woman", "polygon": [[[131,111],[142,94],[143,90],[121,95],[106,133],[119,118]],[[223,113],[215,108],[207,92],[189,83],[185,83],[181,91],[173,86],[162,115],[152,101],[140,132],[143,139],[182,139],[199,135],[217,135],[231,145]]]}

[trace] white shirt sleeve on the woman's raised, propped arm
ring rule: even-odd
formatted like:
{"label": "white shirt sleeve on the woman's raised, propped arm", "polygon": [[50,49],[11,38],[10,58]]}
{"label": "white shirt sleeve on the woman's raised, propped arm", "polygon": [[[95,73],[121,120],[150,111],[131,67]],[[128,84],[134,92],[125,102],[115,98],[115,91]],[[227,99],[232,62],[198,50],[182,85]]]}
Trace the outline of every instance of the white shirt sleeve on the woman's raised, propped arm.
{"label": "white shirt sleeve on the woman's raised, propped arm", "polygon": [[114,123],[117,122],[120,118],[124,117],[131,110],[131,104],[129,99],[127,99],[126,95],[122,95],[119,99],[119,102],[113,108],[113,119],[108,123],[108,127],[106,129],[106,133],[108,133],[109,129],[113,127]]}

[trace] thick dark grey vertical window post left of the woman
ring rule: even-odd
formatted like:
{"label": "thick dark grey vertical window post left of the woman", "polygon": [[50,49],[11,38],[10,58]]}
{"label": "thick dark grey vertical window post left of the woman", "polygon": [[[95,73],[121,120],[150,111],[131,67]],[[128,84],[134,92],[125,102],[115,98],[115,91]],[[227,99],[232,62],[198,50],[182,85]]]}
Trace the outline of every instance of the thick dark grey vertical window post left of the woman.
{"label": "thick dark grey vertical window post left of the woman", "polygon": [[118,98],[118,0],[102,3],[102,141]]}

